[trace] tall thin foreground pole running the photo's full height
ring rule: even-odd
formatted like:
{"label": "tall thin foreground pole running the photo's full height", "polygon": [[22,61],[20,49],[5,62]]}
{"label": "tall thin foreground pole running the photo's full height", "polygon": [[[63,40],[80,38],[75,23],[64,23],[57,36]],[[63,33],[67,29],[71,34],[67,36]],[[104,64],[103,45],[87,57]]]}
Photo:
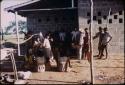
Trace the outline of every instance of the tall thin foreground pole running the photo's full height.
{"label": "tall thin foreground pole running the photo's full height", "polygon": [[90,53],[91,53],[91,62],[90,62],[90,71],[91,71],[91,83],[94,84],[94,64],[93,64],[93,0],[90,1],[91,5],[91,23],[90,23]]}

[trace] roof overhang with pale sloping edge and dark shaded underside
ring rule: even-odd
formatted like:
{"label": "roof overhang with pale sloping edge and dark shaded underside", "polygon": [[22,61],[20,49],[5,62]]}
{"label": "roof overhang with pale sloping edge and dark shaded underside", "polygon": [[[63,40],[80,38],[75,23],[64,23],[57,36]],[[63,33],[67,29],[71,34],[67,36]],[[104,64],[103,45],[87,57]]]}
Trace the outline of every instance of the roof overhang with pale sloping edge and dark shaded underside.
{"label": "roof overhang with pale sloping edge and dark shaded underside", "polygon": [[27,16],[32,12],[43,12],[50,10],[69,10],[77,8],[77,0],[30,0],[22,4],[5,8],[5,11]]}

